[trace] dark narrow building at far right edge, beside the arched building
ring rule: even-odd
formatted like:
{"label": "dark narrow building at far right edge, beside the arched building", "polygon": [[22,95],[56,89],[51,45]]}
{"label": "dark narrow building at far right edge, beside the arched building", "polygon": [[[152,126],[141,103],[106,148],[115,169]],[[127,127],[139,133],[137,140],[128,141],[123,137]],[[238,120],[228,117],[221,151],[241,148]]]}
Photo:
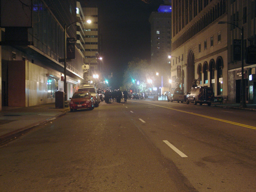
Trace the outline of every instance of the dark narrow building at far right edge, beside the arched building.
{"label": "dark narrow building at far right edge, beside the arched building", "polygon": [[[233,24],[223,24],[227,29],[228,39],[228,99],[239,103],[241,100],[241,86],[247,103],[256,104],[256,61],[246,60],[246,49],[256,45],[256,1],[228,0],[227,20]],[[238,28],[239,27],[239,28]],[[244,29],[244,85],[241,80],[241,61],[237,61],[234,54],[234,40],[241,40],[241,29]],[[254,52],[255,55],[255,52]],[[254,57],[255,58],[255,57]],[[248,63],[247,63],[248,62]]]}

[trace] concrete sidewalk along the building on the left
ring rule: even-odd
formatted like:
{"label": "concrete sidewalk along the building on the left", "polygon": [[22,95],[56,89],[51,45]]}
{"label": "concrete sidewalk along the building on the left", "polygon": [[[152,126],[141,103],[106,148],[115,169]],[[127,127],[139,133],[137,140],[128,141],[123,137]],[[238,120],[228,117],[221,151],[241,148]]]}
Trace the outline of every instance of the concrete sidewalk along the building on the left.
{"label": "concrete sidewalk along the building on the left", "polygon": [[69,108],[55,108],[55,103],[31,107],[2,107],[0,111],[0,144],[28,132],[62,115]]}

